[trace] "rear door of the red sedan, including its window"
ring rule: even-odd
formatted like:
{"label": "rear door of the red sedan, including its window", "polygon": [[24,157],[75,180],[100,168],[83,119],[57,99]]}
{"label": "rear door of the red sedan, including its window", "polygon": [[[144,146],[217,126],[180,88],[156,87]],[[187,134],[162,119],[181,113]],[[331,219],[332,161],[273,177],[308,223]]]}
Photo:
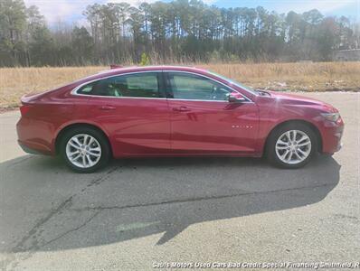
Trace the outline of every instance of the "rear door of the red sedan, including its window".
{"label": "rear door of the red sedan, including its window", "polygon": [[170,116],[161,72],[137,72],[83,86],[90,121],[109,133],[115,156],[170,152]]}

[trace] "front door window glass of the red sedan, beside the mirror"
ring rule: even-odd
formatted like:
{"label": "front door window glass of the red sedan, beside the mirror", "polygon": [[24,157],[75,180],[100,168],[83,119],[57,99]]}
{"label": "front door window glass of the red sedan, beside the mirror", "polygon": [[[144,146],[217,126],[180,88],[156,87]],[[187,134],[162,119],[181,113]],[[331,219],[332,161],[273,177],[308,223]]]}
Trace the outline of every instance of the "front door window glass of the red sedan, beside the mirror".
{"label": "front door window glass of the red sedan, beside the mirror", "polygon": [[168,72],[172,97],[179,99],[227,100],[232,92],[220,83],[195,74]]}

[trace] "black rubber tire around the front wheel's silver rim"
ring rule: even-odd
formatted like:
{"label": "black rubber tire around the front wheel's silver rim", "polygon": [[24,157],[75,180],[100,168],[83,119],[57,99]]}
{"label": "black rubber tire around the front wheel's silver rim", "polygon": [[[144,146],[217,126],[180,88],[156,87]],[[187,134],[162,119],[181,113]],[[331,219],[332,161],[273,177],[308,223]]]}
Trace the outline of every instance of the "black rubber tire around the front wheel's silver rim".
{"label": "black rubber tire around the front wheel's silver rim", "polygon": [[[308,154],[308,157],[302,162],[299,162],[298,164],[284,163],[279,159],[278,154],[276,152],[276,143],[279,139],[279,136],[283,135],[284,133],[290,130],[298,130],[305,133],[306,135],[308,135],[311,142],[311,150],[310,153]],[[304,165],[308,164],[308,162],[316,153],[317,153],[317,135],[309,126],[298,122],[289,123],[283,126],[279,126],[279,128],[276,128],[269,135],[269,139],[266,145],[266,155],[270,164],[273,164],[280,168],[295,169],[295,168],[303,167]]]}

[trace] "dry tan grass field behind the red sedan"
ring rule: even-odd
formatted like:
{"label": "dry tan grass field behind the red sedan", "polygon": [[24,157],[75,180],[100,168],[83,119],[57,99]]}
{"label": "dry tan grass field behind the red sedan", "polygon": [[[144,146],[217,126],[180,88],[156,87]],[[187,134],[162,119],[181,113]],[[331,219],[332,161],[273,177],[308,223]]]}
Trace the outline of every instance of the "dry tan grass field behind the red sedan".
{"label": "dry tan grass field behind the red sedan", "polygon": [[[360,62],[195,64],[256,89],[360,91]],[[25,93],[53,89],[109,67],[1,68],[0,109],[19,106]]]}

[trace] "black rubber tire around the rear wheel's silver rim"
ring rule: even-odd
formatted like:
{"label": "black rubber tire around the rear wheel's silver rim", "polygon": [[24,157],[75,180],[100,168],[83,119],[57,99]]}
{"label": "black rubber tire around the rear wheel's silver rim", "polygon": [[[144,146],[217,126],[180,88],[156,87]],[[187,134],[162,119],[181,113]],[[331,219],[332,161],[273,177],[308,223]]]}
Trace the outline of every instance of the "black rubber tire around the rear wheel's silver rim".
{"label": "black rubber tire around the rear wheel's silver rim", "polygon": [[[100,145],[101,148],[101,154],[99,158],[99,162],[97,164],[94,164],[93,166],[82,168],[75,164],[72,164],[69,160],[67,154],[66,154],[66,145],[74,135],[80,135],[80,134],[86,134],[91,135],[94,137]],[[97,170],[99,170],[101,167],[105,166],[109,162],[110,157],[110,147],[109,142],[105,136],[99,132],[99,130],[96,130],[91,127],[86,126],[79,126],[71,128],[70,130],[66,131],[61,138],[60,141],[60,154],[62,156],[62,159],[65,161],[65,163],[76,173],[93,173]]]}

